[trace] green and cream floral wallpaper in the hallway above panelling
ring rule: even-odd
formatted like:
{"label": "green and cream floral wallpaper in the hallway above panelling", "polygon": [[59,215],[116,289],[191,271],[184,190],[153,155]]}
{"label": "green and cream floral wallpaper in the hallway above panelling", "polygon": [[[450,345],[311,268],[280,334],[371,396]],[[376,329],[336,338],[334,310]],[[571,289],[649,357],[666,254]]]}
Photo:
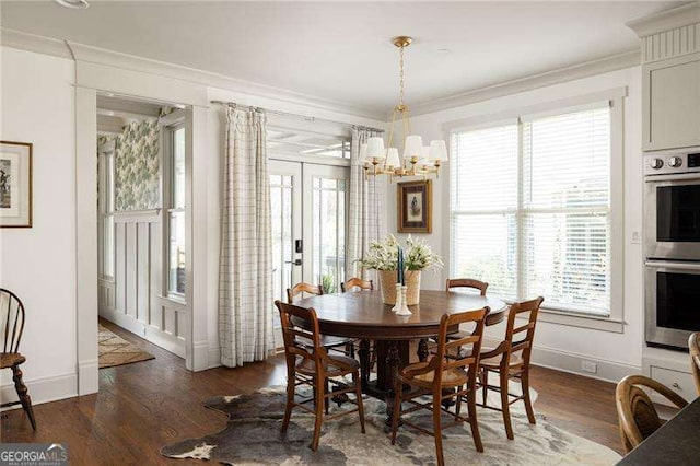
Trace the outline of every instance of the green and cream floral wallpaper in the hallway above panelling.
{"label": "green and cream floral wallpaper in the hallway above panelling", "polygon": [[158,121],[133,121],[115,138],[98,139],[98,143],[116,139],[115,210],[143,210],[161,207],[160,148]]}

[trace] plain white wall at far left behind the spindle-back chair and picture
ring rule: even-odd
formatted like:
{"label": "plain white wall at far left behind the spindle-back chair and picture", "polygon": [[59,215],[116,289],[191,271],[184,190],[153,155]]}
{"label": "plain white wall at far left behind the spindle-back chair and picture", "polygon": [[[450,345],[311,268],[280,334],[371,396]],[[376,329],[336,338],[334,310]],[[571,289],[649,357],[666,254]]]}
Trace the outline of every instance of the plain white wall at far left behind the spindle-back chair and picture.
{"label": "plain white wall at far left behind the spindle-back chair and picture", "polygon": [[[77,394],[74,67],[8,47],[0,54],[0,137],[34,144],[34,225],[0,230],[0,286],[24,302],[22,369],[30,395],[47,400]],[[14,392],[9,382],[3,399]]]}

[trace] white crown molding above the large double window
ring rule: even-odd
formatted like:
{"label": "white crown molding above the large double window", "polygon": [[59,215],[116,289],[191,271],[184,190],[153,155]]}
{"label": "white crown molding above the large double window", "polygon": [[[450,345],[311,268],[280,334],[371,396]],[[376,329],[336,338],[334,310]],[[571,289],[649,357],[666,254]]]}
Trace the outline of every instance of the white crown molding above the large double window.
{"label": "white crown molding above the large double window", "polygon": [[631,68],[641,63],[641,53],[639,50],[626,51],[612,55],[598,60],[587,61],[572,67],[560,68],[539,74],[520,78],[512,81],[476,89],[431,102],[419,103],[411,106],[411,115],[424,115],[450,108],[462,107],[477,102],[489,101],[491,98],[503,97],[517,94],[520,92],[532,91],[547,85],[560,84],[562,82],[574,81],[625,68]]}

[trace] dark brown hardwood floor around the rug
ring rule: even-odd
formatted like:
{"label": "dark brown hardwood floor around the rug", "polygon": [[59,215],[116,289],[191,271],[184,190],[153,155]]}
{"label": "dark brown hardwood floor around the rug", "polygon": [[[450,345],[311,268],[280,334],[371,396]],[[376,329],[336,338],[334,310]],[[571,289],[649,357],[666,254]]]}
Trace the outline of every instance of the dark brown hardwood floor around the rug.
{"label": "dark brown hardwood floor around the rug", "polygon": [[[175,440],[224,428],[223,415],[202,407],[208,397],[249,393],[281,385],[285,380],[281,357],[238,369],[191,373],[182,359],[109,323],[106,325],[155,359],[100,370],[98,394],[35,406],[37,432],[32,431],[21,409],[8,411],[2,419],[3,443],[68,444],[73,465],[201,466],[197,461],[164,458],[159,450]],[[614,384],[534,368],[532,385],[539,393],[536,412],[569,432],[621,452]]]}

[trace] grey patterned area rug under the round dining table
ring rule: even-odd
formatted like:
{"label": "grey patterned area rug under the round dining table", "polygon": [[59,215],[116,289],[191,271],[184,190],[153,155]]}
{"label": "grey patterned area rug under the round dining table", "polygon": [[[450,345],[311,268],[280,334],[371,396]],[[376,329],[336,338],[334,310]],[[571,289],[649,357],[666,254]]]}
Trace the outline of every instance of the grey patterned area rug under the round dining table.
{"label": "grey patterned area rug under the round dining table", "polygon": [[[432,465],[435,444],[432,436],[399,428],[392,445],[384,424],[385,406],[364,398],[366,433],[360,432],[357,416],[324,422],[317,452],[308,447],[313,416],[301,409],[292,411],[287,436],[280,434],[284,415],[282,387],[266,388],[250,395],[219,396],[205,406],[229,416],[224,430],[200,439],[166,445],[161,454],[172,458],[198,458],[232,465]],[[489,404],[495,403],[490,400]],[[443,450],[447,465],[612,465],[620,456],[612,450],[573,435],[537,417],[527,422],[524,408],[512,409],[515,440],[505,436],[501,412],[478,408],[483,453],[474,447],[468,424],[443,431]],[[335,404],[332,410],[339,409]],[[347,405],[340,409],[346,409]],[[430,412],[412,413],[412,420],[430,426]],[[332,413],[332,412],[331,412]]]}

